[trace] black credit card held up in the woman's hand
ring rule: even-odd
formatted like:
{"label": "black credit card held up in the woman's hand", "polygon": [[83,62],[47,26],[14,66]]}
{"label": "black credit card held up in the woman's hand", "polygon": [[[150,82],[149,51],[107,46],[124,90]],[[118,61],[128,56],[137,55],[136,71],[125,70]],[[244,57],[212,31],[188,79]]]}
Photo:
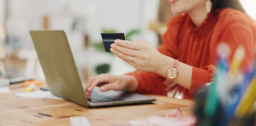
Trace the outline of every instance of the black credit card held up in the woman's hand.
{"label": "black credit card held up in the woman's hand", "polygon": [[103,40],[105,51],[107,52],[111,52],[110,45],[114,43],[115,39],[125,40],[124,33],[101,33],[101,37]]}

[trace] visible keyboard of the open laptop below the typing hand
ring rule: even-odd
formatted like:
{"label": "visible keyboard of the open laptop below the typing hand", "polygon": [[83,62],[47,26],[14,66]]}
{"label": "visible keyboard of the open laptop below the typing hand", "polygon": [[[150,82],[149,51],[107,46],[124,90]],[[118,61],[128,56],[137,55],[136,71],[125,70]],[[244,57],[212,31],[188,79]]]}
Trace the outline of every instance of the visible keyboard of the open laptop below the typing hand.
{"label": "visible keyboard of the open laptop below the typing hand", "polygon": [[88,101],[92,103],[97,103],[97,102],[123,101],[123,99],[117,99],[115,97],[104,96],[99,93],[92,92],[92,97],[91,99],[88,99]]}

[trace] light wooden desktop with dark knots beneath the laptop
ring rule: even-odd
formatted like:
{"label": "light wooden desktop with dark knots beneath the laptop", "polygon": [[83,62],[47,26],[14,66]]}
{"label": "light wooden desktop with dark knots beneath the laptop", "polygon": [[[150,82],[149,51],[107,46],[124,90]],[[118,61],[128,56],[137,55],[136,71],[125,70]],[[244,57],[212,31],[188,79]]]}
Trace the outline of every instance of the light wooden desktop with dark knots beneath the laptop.
{"label": "light wooden desktop with dark knots beneath the laptop", "polygon": [[48,98],[23,98],[15,93],[25,89],[18,84],[11,85],[11,93],[0,94],[0,125],[70,125],[69,117],[87,117],[91,125],[110,125],[100,117],[114,124],[150,116],[165,116],[180,108],[182,116],[193,115],[193,100],[179,100],[164,96],[147,95],[156,98],[152,104],[131,106],[85,108],[66,100]]}

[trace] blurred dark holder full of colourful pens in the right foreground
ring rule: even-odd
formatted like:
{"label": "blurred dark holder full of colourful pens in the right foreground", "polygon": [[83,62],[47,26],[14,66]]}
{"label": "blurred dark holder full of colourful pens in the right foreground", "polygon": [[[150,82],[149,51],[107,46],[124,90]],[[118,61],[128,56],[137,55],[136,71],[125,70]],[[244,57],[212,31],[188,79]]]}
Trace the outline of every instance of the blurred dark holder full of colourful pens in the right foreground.
{"label": "blurred dark holder full of colourful pens in the right foreground", "polygon": [[229,61],[227,44],[218,46],[219,71],[214,82],[196,95],[195,115],[198,125],[255,125],[256,64],[241,64],[245,50],[238,47]]}

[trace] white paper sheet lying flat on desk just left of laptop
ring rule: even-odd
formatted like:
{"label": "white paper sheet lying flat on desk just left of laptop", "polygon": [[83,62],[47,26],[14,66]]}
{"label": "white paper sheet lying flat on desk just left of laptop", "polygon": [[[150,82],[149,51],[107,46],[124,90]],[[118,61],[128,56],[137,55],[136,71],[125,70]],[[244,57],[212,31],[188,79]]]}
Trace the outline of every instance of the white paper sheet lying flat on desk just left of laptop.
{"label": "white paper sheet lying flat on desk just left of laptop", "polygon": [[35,90],[31,92],[18,92],[15,95],[19,97],[26,97],[26,98],[50,98],[50,99],[58,99],[58,100],[63,99],[53,95],[50,91],[42,91],[42,90]]}

